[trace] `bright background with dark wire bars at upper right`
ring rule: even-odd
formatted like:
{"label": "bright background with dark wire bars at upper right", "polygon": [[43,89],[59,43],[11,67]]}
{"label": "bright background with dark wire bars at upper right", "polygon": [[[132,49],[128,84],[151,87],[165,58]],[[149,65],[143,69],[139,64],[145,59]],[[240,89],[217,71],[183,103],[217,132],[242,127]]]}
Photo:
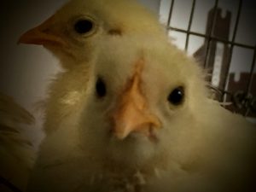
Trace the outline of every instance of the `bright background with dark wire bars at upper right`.
{"label": "bright background with dark wire bars at upper right", "polygon": [[160,1],[160,21],[174,44],[207,69],[216,99],[254,123],[255,17],[251,0]]}

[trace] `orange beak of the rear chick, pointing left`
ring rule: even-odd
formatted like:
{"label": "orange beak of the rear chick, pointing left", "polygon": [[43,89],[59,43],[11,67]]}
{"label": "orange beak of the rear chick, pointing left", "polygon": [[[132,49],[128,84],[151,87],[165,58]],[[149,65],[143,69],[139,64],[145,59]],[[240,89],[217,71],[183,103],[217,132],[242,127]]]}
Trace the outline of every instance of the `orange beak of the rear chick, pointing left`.
{"label": "orange beak of the rear chick, pointing left", "polygon": [[66,42],[60,37],[60,34],[53,29],[54,17],[45,20],[41,25],[25,32],[19,39],[18,44],[39,44],[39,45],[61,45]]}

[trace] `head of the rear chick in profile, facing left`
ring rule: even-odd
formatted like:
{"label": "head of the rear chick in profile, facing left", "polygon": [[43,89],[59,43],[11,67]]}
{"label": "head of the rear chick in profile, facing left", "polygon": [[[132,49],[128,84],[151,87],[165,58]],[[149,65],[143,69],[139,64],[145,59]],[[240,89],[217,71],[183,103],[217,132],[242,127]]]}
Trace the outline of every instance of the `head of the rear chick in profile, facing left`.
{"label": "head of the rear chick in profile, facing left", "polygon": [[126,34],[167,39],[157,16],[136,0],[71,0],[19,42],[44,45],[63,67],[72,68],[90,61],[99,38]]}

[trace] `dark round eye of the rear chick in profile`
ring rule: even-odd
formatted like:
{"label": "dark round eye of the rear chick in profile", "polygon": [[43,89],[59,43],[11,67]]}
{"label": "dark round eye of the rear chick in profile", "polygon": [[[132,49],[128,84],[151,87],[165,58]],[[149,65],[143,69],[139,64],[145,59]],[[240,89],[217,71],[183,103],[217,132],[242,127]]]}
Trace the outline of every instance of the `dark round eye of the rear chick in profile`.
{"label": "dark round eye of the rear chick in profile", "polygon": [[73,26],[75,32],[84,35],[90,33],[94,30],[95,24],[93,20],[90,19],[79,19]]}

